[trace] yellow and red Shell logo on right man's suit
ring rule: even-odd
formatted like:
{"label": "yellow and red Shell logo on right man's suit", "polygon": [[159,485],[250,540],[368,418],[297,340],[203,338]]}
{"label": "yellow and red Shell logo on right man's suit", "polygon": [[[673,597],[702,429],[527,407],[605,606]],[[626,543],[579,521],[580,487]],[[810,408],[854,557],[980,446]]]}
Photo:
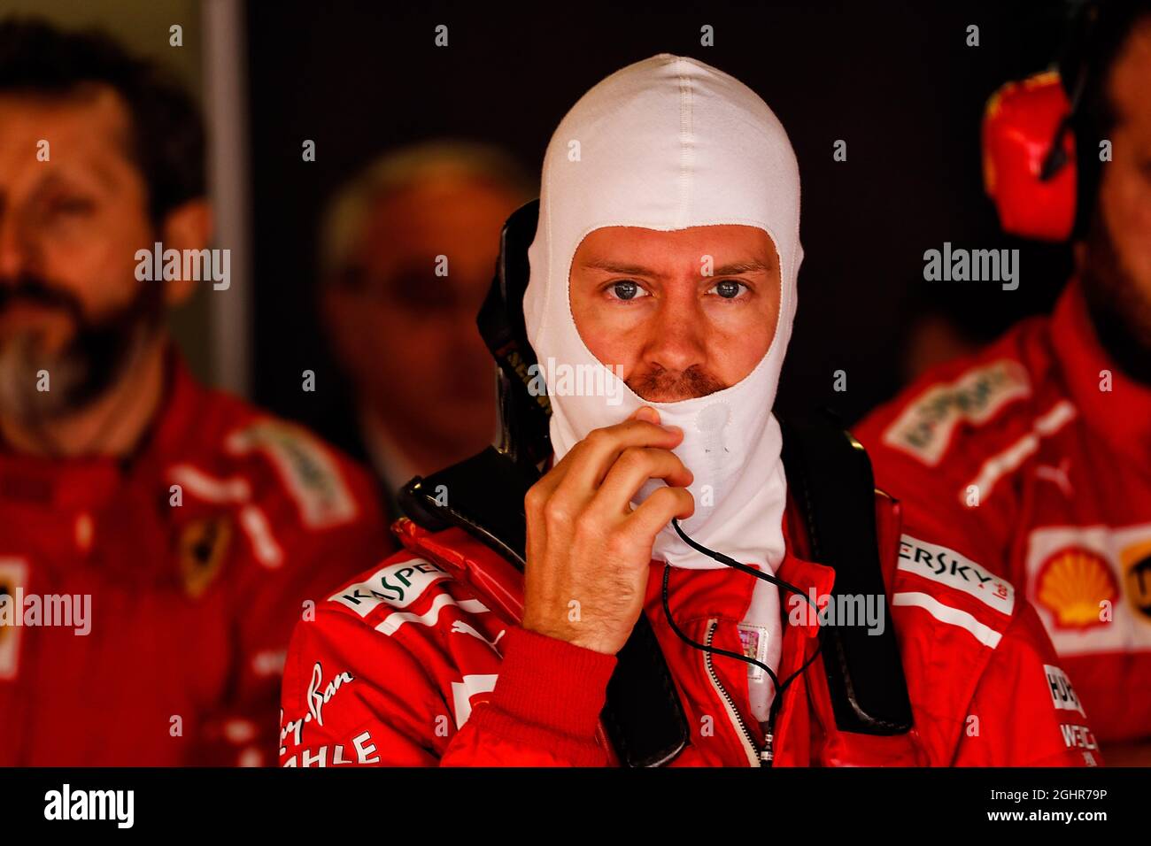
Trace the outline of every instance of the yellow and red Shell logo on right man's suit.
{"label": "yellow and red Shell logo on right man's suit", "polygon": [[1043,566],[1036,580],[1036,597],[1055,617],[1060,628],[1104,625],[1099,603],[1119,597],[1115,576],[1103,556],[1082,547],[1060,549]]}

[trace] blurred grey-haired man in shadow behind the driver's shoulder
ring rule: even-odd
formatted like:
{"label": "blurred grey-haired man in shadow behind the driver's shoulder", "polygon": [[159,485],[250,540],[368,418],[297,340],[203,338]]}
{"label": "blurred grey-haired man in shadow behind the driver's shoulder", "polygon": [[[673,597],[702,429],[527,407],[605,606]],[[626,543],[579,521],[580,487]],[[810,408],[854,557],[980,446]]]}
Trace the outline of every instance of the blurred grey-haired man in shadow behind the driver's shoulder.
{"label": "blurred grey-haired man in shadow behind the driver's shoulder", "polygon": [[500,230],[535,196],[506,154],[432,142],[386,154],[333,199],[323,222],[322,312],[351,409],[318,426],[395,494],[488,445],[491,356],[475,315]]}

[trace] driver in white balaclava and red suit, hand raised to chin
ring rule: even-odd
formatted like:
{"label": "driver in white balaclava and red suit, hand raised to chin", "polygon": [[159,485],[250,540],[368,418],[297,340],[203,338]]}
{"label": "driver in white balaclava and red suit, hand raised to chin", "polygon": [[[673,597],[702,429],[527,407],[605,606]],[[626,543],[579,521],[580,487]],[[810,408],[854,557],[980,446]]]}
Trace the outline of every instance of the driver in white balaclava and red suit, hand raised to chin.
{"label": "driver in white balaclava and red suit, hand raised to chin", "polygon": [[[805,558],[813,506],[788,500],[771,411],[799,172],[767,105],[702,62],[653,56],[576,104],[542,176],[523,302],[539,369],[521,340],[489,343],[505,399],[540,405],[542,376],[554,455],[523,479],[504,442],[407,486],[405,550],[297,628],[281,763],[1087,762],[1065,742],[1087,736],[1060,725],[1052,691],[1069,688],[1034,610],[913,536],[869,473],[845,524],[874,534],[845,536],[871,547],[849,544],[847,566],[870,562],[875,589],[832,594],[859,571]],[[523,266],[509,245],[526,241],[505,239],[502,267]],[[511,311],[523,281],[505,281],[489,303]],[[531,465],[542,449],[526,451]],[[890,651],[853,661],[849,631]]]}

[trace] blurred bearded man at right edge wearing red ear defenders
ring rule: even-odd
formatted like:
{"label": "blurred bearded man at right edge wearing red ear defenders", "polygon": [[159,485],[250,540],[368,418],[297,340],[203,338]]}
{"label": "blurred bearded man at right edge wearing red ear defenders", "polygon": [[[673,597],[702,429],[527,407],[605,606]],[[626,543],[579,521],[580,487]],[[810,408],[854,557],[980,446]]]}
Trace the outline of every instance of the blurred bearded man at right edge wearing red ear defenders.
{"label": "blurred bearded man at right edge wearing red ear defenders", "polygon": [[1004,228],[1070,237],[1075,276],[1051,315],[929,372],[855,435],[906,519],[1026,592],[1108,763],[1148,763],[1151,2],[1082,23],[1061,83],[1008,85],[984,123]]}

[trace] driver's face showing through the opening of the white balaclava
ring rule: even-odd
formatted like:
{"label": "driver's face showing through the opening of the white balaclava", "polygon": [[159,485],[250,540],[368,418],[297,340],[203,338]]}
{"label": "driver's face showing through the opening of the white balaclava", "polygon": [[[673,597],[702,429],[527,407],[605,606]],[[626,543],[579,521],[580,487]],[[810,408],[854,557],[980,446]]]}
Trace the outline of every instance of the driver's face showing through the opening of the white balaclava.
{"label": "driver's face showing through the opening of the white balaclava", "polygon": [[570,282],[584,343],[648,402],[735,384],[767,355],[779,314],[779,259],[755,227],[596,229]]}

